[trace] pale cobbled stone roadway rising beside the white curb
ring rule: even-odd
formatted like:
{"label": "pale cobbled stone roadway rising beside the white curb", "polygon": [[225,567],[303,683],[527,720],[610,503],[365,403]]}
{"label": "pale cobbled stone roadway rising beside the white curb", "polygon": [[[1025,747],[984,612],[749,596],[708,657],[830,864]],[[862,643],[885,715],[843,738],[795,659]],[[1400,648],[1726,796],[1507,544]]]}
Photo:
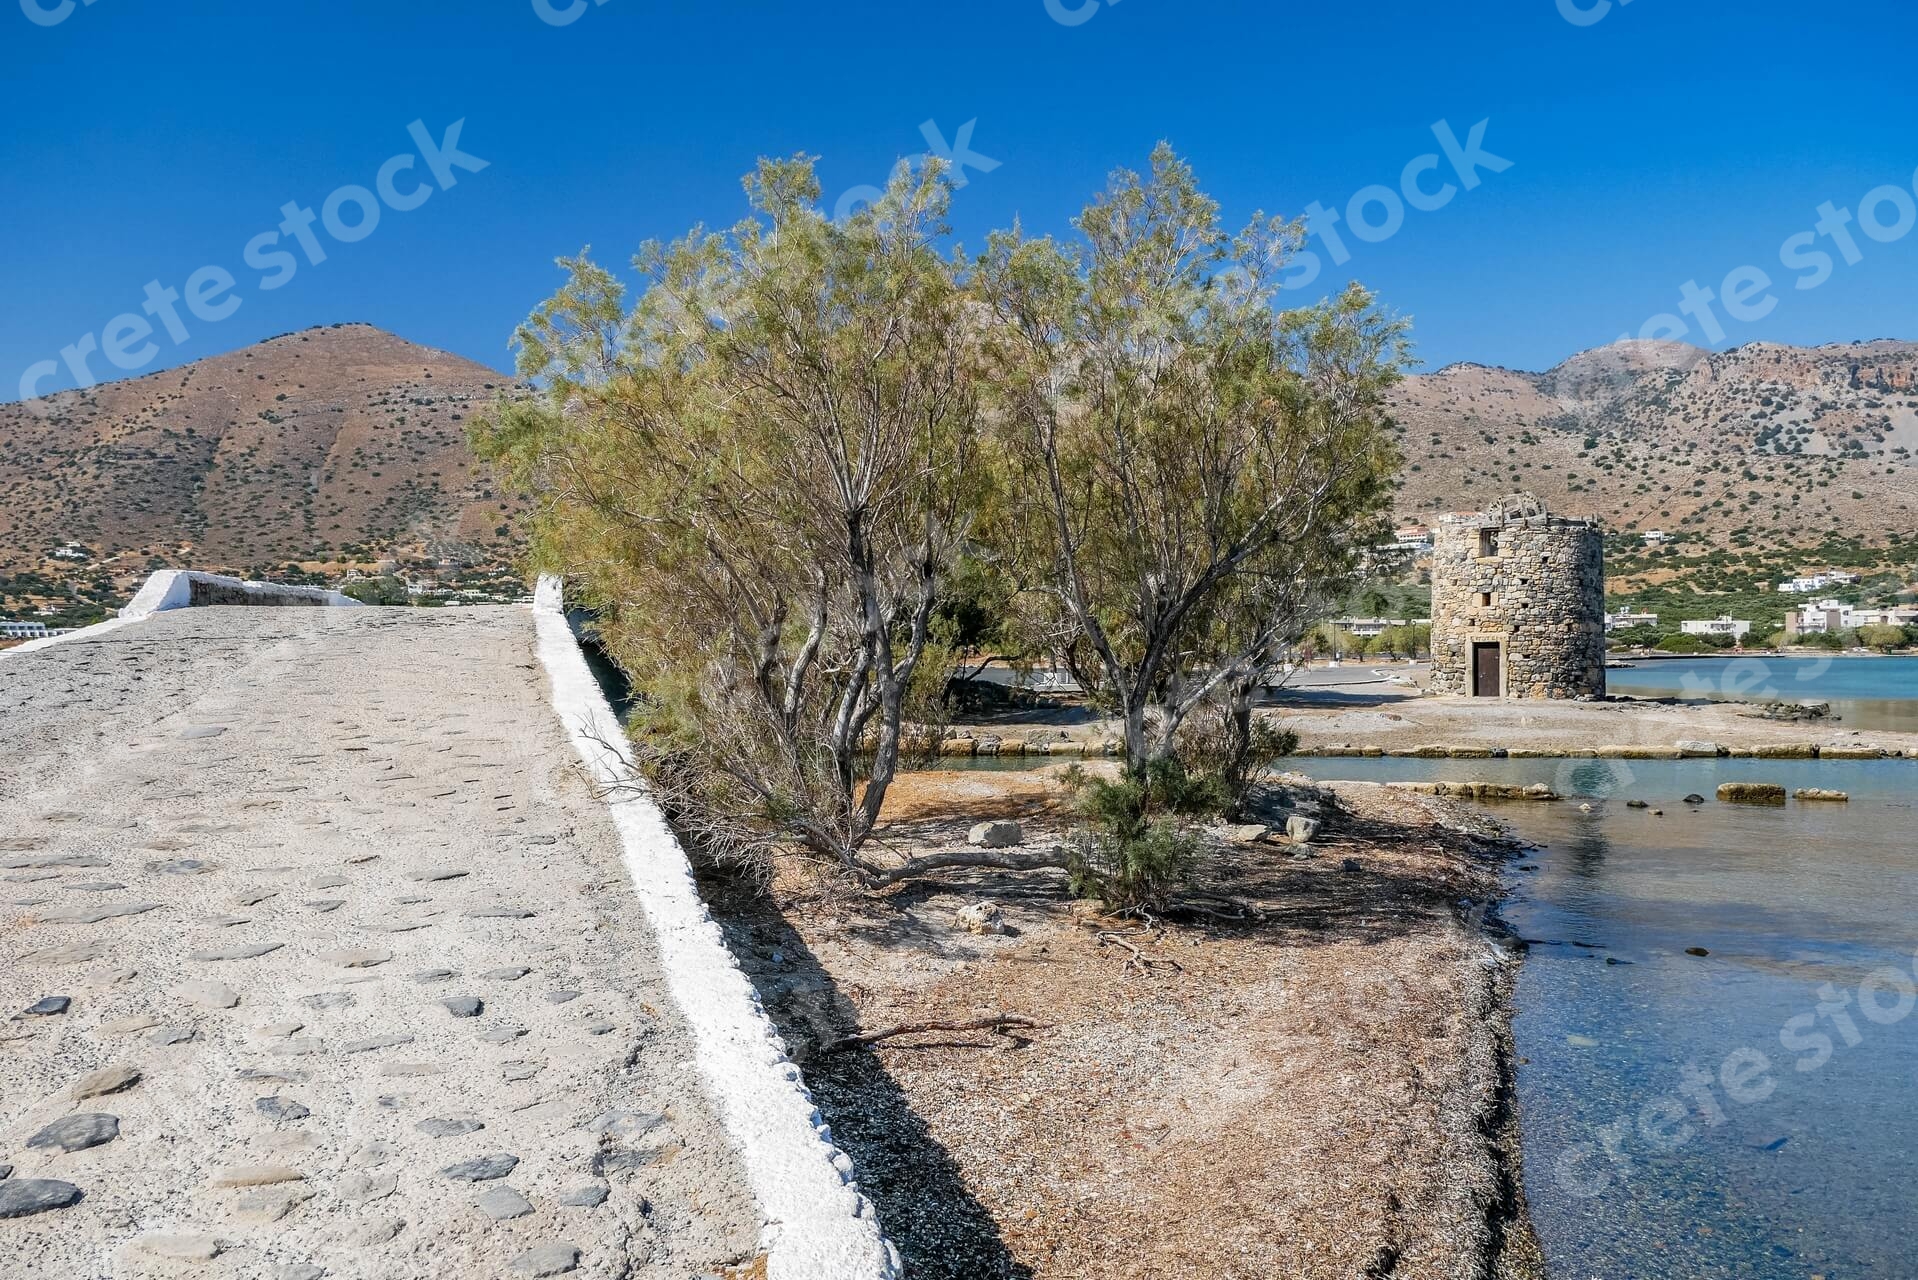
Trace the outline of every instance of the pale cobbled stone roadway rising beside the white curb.
{"label": "pale cobbled stone roadway rising beside the white curb", "polygon": [[161,614],[0,723],[0,1209],[81,1196],[0,1276],[760,1274],[526,610]]}

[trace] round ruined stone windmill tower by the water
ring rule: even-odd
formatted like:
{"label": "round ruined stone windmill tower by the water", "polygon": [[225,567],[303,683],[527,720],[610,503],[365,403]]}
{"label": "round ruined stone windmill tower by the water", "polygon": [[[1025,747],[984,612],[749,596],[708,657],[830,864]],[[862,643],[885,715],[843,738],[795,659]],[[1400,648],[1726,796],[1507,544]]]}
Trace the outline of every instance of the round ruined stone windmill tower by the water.
{"label": "round ruined stone windmill tower by the water", "polygon": [[[1481,533],[1496,553],[1481,555]],[[1490,603],[1486,603],[1490,597]],[[1550,514],[1448,516],[1433,532],[1433,693],[1473,691],[1473,645],[1504,647],[1504,693],[1605,693],[1605,545]]]}

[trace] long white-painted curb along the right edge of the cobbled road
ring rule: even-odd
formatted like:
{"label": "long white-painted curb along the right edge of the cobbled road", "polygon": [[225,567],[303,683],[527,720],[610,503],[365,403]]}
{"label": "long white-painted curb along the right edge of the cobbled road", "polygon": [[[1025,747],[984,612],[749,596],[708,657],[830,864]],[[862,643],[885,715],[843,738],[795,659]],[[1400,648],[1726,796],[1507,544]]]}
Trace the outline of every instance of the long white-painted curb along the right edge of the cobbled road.
{"label": "long white-painted curb along the right edge of the cobbled road", "polygon": [[[539,580],[533,622],[539,660],[552,681],[552,706],[589,775],[600,787],[635,787],[639,779],[631,768],[600,745],[625,737],[566,622],[558,578]],[[771,1280],[898,1280],[900,1255],[852,1180],[852,1159],[832,1146],[832,1130],[806,1092],[800,1069],[786,1059],[760,994],[706,913],[666,816],[643,791],[627,794],[610,802],[608,814],[658,938],[667,988],[692,1031],[700,1077],[765,1215],[767,1274]]]}

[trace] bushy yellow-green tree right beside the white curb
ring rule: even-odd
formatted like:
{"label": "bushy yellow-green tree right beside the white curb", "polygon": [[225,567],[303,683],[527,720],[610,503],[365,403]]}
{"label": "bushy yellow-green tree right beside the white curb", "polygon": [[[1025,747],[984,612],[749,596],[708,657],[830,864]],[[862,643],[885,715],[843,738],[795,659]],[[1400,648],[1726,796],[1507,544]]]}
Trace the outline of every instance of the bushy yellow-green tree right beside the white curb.
{"label": "bushy yellow-green tree right beside the white curb", "polygon": [[644,246],[631,309],[585,255],[518,332],[545,397],[480,451],[539,495],[535,555],[600,610],[681,829],[765,867],[859,856],[900,758],[940,580],[976,507],[976,374],[949,184],[900,167],[846,221],[807,157],[752,217]]}

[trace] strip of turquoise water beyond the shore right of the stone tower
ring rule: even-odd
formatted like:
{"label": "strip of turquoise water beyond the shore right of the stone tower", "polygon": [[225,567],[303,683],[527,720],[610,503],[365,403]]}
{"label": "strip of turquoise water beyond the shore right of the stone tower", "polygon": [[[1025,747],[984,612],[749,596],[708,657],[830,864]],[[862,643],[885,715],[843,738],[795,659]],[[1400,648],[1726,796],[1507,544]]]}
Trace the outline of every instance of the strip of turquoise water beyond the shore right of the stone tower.
{"label": "strip of turquoise water beyond the shore right of the stone tower", "polygon": [[1605,672],[1605,683],[1613,693],[1820,700],[1847,729],[1918,733],[1918,658],[1657,658]]}

